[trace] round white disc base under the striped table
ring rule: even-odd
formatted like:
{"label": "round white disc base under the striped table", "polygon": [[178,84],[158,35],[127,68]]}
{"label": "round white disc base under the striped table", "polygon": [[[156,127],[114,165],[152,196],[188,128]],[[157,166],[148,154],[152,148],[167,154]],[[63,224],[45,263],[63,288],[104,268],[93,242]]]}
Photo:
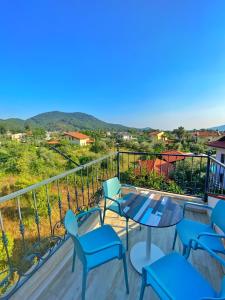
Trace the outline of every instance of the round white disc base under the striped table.
{"label": "round white disc base under the striped table", "polygon": [[164,256],[163,251],[155,244],[151,244],[151,255],[146,256],[146,242],[135,244],[130,251],[130,261],[134,269],[142,274],[142,268],[150,265],[160,257]]}

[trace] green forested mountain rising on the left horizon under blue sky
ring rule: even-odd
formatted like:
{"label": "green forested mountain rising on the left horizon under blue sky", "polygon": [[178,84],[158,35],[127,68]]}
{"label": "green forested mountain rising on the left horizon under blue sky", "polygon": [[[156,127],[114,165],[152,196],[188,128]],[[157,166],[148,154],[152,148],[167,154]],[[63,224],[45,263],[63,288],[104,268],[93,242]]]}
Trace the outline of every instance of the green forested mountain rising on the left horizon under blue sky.
{"label": "green forested mountain rising on the left horizon under blue sky", "polygon": [[120,124],[111,124],[101,121],[92,115],[81,112],[65,113],[60,111],[46,112],[27,120],[6,119],[0,120],[0,126],[7,130],[23,130],[26,125],[31,128],[41,127],[45,130],[79,130],[79,129],[105,129],[128,130],[129,127]]}

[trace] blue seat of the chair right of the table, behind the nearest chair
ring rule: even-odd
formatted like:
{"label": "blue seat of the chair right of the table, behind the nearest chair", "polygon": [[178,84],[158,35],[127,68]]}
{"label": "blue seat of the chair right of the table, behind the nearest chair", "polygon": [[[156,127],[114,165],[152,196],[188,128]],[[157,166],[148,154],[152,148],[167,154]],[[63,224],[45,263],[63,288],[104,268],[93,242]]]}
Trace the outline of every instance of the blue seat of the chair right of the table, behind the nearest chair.
{"label": "blue seat of the chair right of the table, behind the nearest chair", "polygon": [[[183,219],[179,224],[177,224],[176,229],[182,243],[186,247],[188,246],[190,239],[197,239],[201,232],[215,233],[210,225],[189,219]],[[203,236],[200,238],[200,241],[216,252],[225,252],[221,239]]]}

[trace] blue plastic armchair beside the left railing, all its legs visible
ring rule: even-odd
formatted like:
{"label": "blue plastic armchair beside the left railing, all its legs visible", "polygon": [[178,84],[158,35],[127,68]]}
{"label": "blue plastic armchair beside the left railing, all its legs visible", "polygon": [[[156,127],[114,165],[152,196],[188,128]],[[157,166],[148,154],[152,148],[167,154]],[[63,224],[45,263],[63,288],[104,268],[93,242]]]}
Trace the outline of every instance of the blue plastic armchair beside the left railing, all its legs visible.
{"label": "blue plastic armchair beside the left railing, all its legs visible", "polygon": [[[80,236],[78,234],[79,219],[93,212],[99,213],[101,227]],[[126,251],[113,228],[103,225],[101,209],[93,208],[79,215],[68,210],[64,218],[64,225],[74,242],[72,272],[74,272],[76,254],[83,265],[82,300],[85,300],[88,272],[113,259],[123,260],[126,291],[129,293]]]}

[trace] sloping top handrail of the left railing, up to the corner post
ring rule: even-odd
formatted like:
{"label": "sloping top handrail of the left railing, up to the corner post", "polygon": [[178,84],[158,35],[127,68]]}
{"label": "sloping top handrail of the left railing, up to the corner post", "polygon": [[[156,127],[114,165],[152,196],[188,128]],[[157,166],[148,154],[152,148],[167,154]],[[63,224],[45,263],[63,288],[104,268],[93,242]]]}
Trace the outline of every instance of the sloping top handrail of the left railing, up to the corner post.
{"label": "sloping top handrail of the left railing, up to the corner post", "polygon": [[89,163],[86,163],[86,164],[84,164],[84,165],[81,165],[81,166],[79,166],[79,167],[76,167],[76,168],[74,168],[74,169],[72,169],[72,170],[69,170],[69,171],[66,171],[66,172],[64,172],[64,173],[61,173],[61,174],[59,174],[59,175],[53,176],[53,177],[51,177],[51,178],[42,180],[41,182],[32,184],[32,185],[30,185],[30,186],[28,186],[28,187],[26,187],[26,188],[24,188],[24,189],[18,190],[18,191],[14,192],[14,193],[11,193],[11,194],[9,194],[9,195],[0,197],[0,203],[3,203],[3,202],[5,202],[5,201],[11,200],[11,199],[14,199],[14,198],[19,197],[19,196],[21,196],[21,195],[24,195],[24,194],[26,194],[26,193],[28,193],[28,192],[31,192],[31,191],[33,191],[33,190],[36,190],[36,189],[38,189],[38,188],[40,188],[40,187],[42,187],[42,186],[45,186],[45,185],[47,185],[47,184],[49,184],[49,183],[51,183],[51,182],[54,182],[54,181],[59,180],[59,179],[62,179],[62,178],[64,178],[64,177],[68,176],[68,175],[71,175],[71,174],[76,173],[76,172],[78,172],[78,171],[80,171],[80,170],[83,170],[83,169],[85,169],[85,168],[87,168],[87,167],[89,167],[89,166],[91,166],[91,165],[97,164],[97,163],[103,161],[104,159],[106,159],[106,158],[108,158],[108,157],[111,157],[111,156],[113,156],[113,155],[115,155],[115,154],[117,154],[117,152],[111,152],[110,154],[107,154],[107,155],[105,155],[105,156],[102,156],[102,157],[100,157],[100,158],[98,158],[98,159],[95,159],[95,160],[93,160],[93,161],[91,161],[91,162],[89,162]]}

